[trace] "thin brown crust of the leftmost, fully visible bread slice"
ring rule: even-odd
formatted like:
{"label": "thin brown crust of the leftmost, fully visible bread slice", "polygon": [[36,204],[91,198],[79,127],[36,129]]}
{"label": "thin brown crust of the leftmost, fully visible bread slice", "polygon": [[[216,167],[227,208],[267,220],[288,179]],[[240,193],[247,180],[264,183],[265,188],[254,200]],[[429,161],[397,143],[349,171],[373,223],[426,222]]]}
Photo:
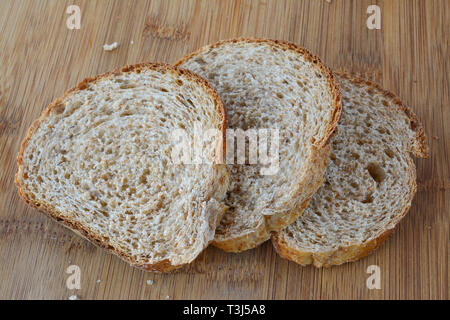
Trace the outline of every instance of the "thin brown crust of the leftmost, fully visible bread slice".
{"label": "thin brown crust of the leftmost, fully visible bread slice", "polygon": [[[76,234],[78,234],[81,237],[92,242],[96,246],[103,248],[103,249],[107,250],[108,252],[118,256],[119,258],[121,258],[125,262],[129,263],[133,267],[140,268],[145,271],[168,272],[168,271],[172,271],[174,269],[178,269],[178,268],[182,267],[183,265],[172,265],[168,259],[161,260],[161,261],[159,261],[157,263],[153,263],[153,264],[138,263],[138,262],[134,261],[134,259],[132,257],[130,257],[129,255],[127,255],[125,252],[109,245],[107,243],[106,239],[102,239],[102,237],[100,237],[98,234],[90,232],[81,223],[72,221],[70,219],[61,218],[60,217],[61,214],[58,210],[56,210],[52,206],[46,205],[44,202],[39,201],[38,199],[33,199],[32,195],[28,194],[25,187],[21,184],[21,177],[23,176],[23,154],[24,154],[25,148],[26,148],[29,140],[33,136],[34,132],[39,128],[42,121],[46,117],[49,116],[49,114],[53,108],[57,108],[58,105],[60,105],[62,103],[64,98],[66,98],[72,92],[84,90],[89,86],[89,84],[95,83],[96,81],[98,81],[100,79],[109,77],[111,75],[119,75],[124,72],[130,72],[130,71],[140,72],[143,69],[156,70],[156,71],[160,71],[163,73],[164,72],[174,72],[174,73],[177,73],[178,75],[183,75],[183,76],[187,77],[190,81],[195,82],[196,84],[200,85],[212,97],[212,99],[214,100],[214,104],[216,106],[217,112],[220,114],[220,116],[222,118],[222,124],[219,129],[222,131],[223,153],[221,155],[219,155],[220,159],[218,159],[218,160],[220,162],[223,162],[223,156],[225,154],[225,147],[226,147],[225,140],[224,140],[225,133],[226,133],[225,132],[226,113],[225,113],[225,108],[222,104],[222,101],[221,101],[219,95],[217,94],[217,92],[214,90],[214,88],[208,83],[208,81],[206,81],[202,77],[192,73],[189,70],[185,70],[182,68],[176,68],[174,66],[171,66],[171,65],[165,64],[165,63],[139,63],[139,64],[134,64],[134,65],[127,65],[122,68],[118,68],[112,72],[99,74],[99,75],[96,75],[91,78],[85,78],[83,81],[78,83],[78,85],[76,85],[72,89],[67,90],[62,97],[60,97],[60,98],[56,99],[55,101],[53,101],[52,103],[50,103],[48,105],[48,107],[42,111],[41,116],[32,123],[32,125],[28,129],[28,132],[27,132],[24,140],[21,143],[20,151],[17,155],[18,171],[15,175],[14,182],[18,188],[19,196],[28,205],[38,209],[40,212],[46,214],[48,217],[59,222],[63,226],[67,227],[68,229],[72,230]],[[218,219],[218,220],[220,220],[220,219]]]}

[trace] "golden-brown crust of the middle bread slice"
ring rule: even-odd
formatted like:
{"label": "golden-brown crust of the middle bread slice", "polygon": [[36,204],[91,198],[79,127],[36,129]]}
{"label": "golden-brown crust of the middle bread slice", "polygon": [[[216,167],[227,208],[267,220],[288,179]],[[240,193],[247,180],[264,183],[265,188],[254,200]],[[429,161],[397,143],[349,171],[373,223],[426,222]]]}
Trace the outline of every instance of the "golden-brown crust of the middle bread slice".
{"label": "golden-brown crust of the middle bread slice", "polygon": [[305,168],[305,172],[299,174],[299,177],[303,177],[303,180],[299,181],[298,194],[300,194],[300,192],[307,194],[308,196],[306,197],[306,200],[304,200],[294,210],[277,213],[274,216],[263,216],[263,220],[258,225],[257,229],[251,230],[247,234],[235,238],[223,239],[220,239],[216,236],[212,244],[228,252],[241,252],[257,247],[259,244],[270,239],[273,232],[282,230],[302,214],[303,210],[307,207],[307,204],[309,203],[312,195],[317,191],[317,189],[323,182],[323,173],[325,171],[330,153],[330,139],[336,132],[336,127],[342,112],[341,91],[334,74],[324,63],[322,63],[322,61],[316,55],[312,54],[305,48],[291,42],[256,38],[237,38],[222,40],[214,44],[204,46],[190,54],[183,56],[181,59],[176,61],[174,65],[180,66],[191,58],[197,55],[201,55],[202,53],[212,48],[238,42],[267,43],[271,46],[294,51],[296,54],[301,55],[305,60],[314,65],[314,67],[318,69],[321,75],[325,76],[332,96],[333,112],[331,114],[331,119],[329,120],[326,133],[321,139],[315,141],[313,144],[313,152],[310,159],[311,165],[308,168]]}

